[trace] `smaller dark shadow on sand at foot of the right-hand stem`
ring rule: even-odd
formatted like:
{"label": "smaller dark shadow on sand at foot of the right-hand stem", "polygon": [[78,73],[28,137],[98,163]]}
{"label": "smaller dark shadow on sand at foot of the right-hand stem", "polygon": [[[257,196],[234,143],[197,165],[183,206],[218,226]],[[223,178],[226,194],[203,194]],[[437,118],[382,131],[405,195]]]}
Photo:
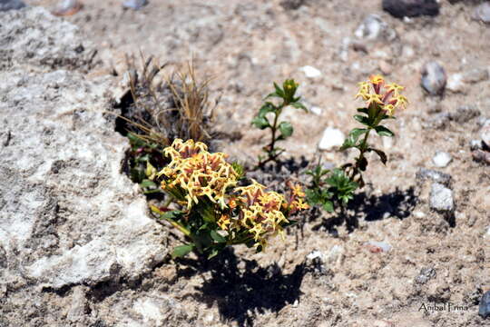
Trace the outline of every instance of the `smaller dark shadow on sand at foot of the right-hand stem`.
{"label": "smaller dark shadow on sand at foot of the right-hand stem", "polygon": [[320,228],[326,229],[329,233],[337,235],[337,227],[346,223],[348,232],[353,232],[358,228],[359,220],[367,222],[396,217],[398,219],[407,218],[417,205],[418,196],[415,187],[410,186],[405,190],[396,189],[392,193],[382,195],[358,193],[354,199],[348,203],[347,210],[336,213],[334,217],[324,219],[315,225],[313,230]]}

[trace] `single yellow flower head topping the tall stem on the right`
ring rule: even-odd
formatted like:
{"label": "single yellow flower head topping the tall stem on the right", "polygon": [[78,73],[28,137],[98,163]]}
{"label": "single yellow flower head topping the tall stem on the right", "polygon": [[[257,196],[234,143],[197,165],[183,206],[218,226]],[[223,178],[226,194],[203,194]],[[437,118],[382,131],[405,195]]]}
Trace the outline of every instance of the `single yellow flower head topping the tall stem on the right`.
{"label": "single yellow flower head topping the tall stem on the right", "polygon": [[[372,91],[371,91],[372,86]],[[385,92],[381,92],[384,86]],[[381,75],[371,75],[367,82],[359,83],[359,91],[356,98],[361,98],[368,105],[378,104],[389,115],[395,114],[396,108],[405,108],[407,106],[407,98],[400,94],[404,89],[398,84],[385,84],[385,80]]]}

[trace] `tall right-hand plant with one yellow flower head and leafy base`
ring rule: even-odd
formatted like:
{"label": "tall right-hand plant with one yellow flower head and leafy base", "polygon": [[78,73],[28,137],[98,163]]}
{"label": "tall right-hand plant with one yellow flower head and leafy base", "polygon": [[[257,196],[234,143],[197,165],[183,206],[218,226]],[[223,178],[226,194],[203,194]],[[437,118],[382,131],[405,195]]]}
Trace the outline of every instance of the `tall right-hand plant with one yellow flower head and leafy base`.
{"label": "tall right-hand plant with one yellow flower head and leafy base", "polygon": [[306,190],[311,205],[319,205],[327,212],[333,212],[336,204],[346,206],[354,198],[354,192],[364,187],[362,173],[368,167],[367,153],[377,154],[383,164],[387,163],[387,154],[368,144],[369,135],[375,131],[379,136],[393,137],[395,134],[384,125],[387,120],[395,119],[398,108],[407,106],[407,98],[400,94],[404,89],[398,84],[386,84],[380,75],[371,75],[366,82],[359,83],[356,98],[365,101],[366,106],[358,108],[354,115],[361,128],[354,128],[348,134],[340,150],[357,149],[359,154],[354,163],[346,163],[333,171],[322,169],[318,165],[306,173],[311,176],[311,185]]}

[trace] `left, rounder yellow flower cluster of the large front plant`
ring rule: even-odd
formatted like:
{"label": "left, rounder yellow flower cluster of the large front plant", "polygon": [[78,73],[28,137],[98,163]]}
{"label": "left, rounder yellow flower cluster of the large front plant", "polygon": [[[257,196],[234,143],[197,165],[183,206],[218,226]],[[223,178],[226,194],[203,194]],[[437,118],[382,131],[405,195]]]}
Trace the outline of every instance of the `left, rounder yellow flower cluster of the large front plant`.
{"label": "left, rounder yellow flower cluster of the large front plant", "polygon": [[193,140],[184,143],[181,139],[165,148],[164,154],[171,157],[171,163],[159,173],[167,177],[162,189],[180,187],[186,193],[188,209],[202,196],[219,203],[221,208],[226,206],[226,191],[235,186],[238,179],[238,173],[225,160],[226,154],[210,154],[206,144]]}

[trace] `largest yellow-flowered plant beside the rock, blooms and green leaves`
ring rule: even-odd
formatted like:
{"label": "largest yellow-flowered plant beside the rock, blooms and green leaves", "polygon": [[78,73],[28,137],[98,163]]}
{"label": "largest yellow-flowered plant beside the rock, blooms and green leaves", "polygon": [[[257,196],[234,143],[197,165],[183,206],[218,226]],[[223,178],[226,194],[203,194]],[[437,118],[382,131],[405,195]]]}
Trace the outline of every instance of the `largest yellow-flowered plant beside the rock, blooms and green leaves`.
{"label": "largest yellow-flowered plant beside the rock, blooms and green leaves", "polygon": [[293,214],[309,207],[299,185],[289,184],[286,197],[253,180],[238,186],[240,165],[228,163],[226,154],[209,153],[201,142],[176,139],[163,153],[171,163],[158,175],[177,208],[152,206],[152,212],[186,236],[188,243],[176,247],[173,257],[194,251],[211,258],[241,243],[263,251],[270,236],[284,237]]}

